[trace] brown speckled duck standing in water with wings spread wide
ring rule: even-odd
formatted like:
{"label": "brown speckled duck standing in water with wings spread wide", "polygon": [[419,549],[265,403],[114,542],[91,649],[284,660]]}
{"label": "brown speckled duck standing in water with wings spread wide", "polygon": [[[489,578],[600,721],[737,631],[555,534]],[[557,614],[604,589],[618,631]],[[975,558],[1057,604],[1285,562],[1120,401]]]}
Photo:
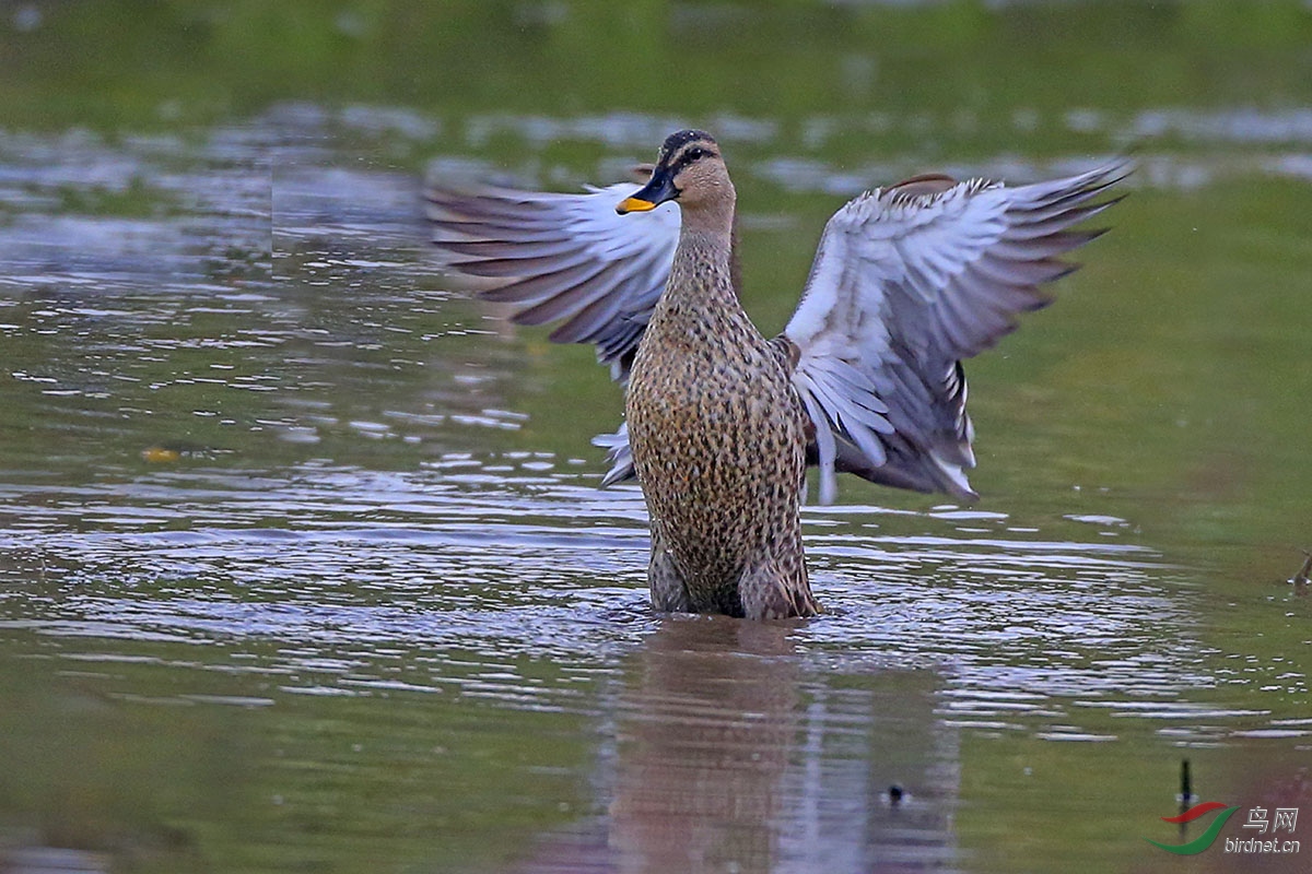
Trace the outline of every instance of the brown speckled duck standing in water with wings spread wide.
{"label": "brown speckled duck standing in water with wings spread wide", "polygon": [[1124,160],[1009,186],[925,174],[871,189],[827,223],[800,301],[774,338],[741,305],[737,195],[720,144],[681,130],[646,183],[581,194],[432,185],[442,266],[484,283],[513,321],[556,322],[625,389],[594,439],[602,485],[636,478],[647,582],[661,612],[750,620],[821,612],[800,507],[838,473],[963,502],[979,495],[962,362],[1052,301],[1076,225],[1122,199]]}

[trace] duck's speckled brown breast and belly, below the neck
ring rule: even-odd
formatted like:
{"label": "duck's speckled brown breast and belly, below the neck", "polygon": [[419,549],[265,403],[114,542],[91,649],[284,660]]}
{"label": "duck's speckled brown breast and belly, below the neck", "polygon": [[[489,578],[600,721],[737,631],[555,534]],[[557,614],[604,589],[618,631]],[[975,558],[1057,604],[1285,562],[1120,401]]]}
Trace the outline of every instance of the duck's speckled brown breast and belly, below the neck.
{"label": "duck's speckled brown breast and belly, below the neck", "polygon": [[694,598],[733,584],[757,553],[800,549],[782,542],[796,537],[806,470],[800,401],[778,352],[748,328],[642,349],[628,387],[652,527]]}

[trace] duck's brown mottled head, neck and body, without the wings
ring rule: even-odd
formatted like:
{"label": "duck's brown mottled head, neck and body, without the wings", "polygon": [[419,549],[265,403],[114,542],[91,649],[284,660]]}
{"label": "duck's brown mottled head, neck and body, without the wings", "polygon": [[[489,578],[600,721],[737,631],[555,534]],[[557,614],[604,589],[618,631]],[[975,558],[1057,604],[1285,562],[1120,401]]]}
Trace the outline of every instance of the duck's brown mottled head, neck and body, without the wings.
{"label": "duck's brown mottled head, neck and body, without the wings", "polygon": [[812,616],[819,605],[798,518],[807,414],[791,355],[739,304],[733,183],[710,136],[666,140],[652,181],[619,208],[646,211],[674,197],[678,248],[625,408],[651,516],[652,603],[750,618]]}

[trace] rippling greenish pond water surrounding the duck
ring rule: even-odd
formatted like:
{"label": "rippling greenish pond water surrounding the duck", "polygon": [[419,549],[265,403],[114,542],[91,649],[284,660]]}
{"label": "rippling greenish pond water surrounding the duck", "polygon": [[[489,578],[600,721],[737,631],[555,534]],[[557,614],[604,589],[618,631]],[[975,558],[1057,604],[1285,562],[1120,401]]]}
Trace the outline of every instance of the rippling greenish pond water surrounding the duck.
{"label": "rippling greenish pond water surrounding the duck", "polygon": [[[0,37],[18,69],[83,45],[58,5],[21,5]],[[1082,60],[1110,25],[1065,7],[1077,68],[1174,69],[1204,47],[1239,63],[1206,16],[1149,12],[1160,51]],[[180,8],[181,31],[173,13],[106,12],[98,33],[239,33],[262,69],[237,26],[258,13]],[[1152,81],[1124,104],[1115,72],[1015,97],[1012,50],[974,13],[837,28],[816,7],[781,62],[810,59],[813,90],[770,107],[691,89],[680,110],[644,96],[663,80],[636,60],[625,100],[585,76],[556,94],[580,79],[572,41],[600,68],[593,28],[635,52],[642,33],[571,7],[282,8],[265,24],[299,16],[308,41],[285,77],[241,85],[202,52],[207,79],[168,62],[192,97],[134,80],[146,110],[106,104],[98,77],[42,102],[52,85],[14,73],[5,98],[0,867],[1157,870],[1173,857],[1143,837],[1202,832],[1158,819],[1179,810],[1183,759],[1202,799],[1242,808],[1225,835],[1250,836],[1254,806],[1312,811],[1309,600],[1287,582],[1312,546],[1312,76],[1284,72],[1305,60],[1282,30],[1245,30],[1269,52],[1244,67],[1258,104],[1216,83],[1166,102]],[[635,9],[685,35],[744,26],[736,7]],[[985,20],[1021,33],[1044,9]],[[743,45],[775,45],[795,14],[761,13]],[[926,94],[896,48],[863,42],[939,14],[997,51],[1000,106]],[[470,31],[485,58],[459,51]],[[337,79],[315,54],[333,41],[392,88]],[[733,58],[706,63],[733,79]],[[1014,63],[1043,68],[1033,48]],[[428,102],[407,71],[432,66],[467,89]],[[216,81],[237,97],[197,96]],[[840,504],[807,507],[815,620],[652,613],[640,494],[598,490],[588,444],[618,421],[617,389],[426,250],[425,174],[607,182],[685,119],[731,155],[766,332],[861,187],[930,168],[1038,178],[1139,143],[1115,232],[970,366],[984,499],[845,482]]]}

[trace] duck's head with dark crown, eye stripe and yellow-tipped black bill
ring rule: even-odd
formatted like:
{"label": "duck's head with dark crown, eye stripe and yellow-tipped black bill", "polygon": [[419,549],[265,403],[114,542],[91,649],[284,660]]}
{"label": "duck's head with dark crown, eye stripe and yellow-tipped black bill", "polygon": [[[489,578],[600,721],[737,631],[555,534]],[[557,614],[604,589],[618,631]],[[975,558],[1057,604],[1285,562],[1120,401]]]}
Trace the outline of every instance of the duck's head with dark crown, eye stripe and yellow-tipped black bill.
{"label": "duck's head with dark crown, eye stripe and yellow-tipped black bill", "polygon": [[646,212],[666,200],[684,210],[702,206],[733,206],[733,183],[720,157],[719,143],[706,131],[678,131],[665,138],[652,177],[625,198],[615,212]]}

